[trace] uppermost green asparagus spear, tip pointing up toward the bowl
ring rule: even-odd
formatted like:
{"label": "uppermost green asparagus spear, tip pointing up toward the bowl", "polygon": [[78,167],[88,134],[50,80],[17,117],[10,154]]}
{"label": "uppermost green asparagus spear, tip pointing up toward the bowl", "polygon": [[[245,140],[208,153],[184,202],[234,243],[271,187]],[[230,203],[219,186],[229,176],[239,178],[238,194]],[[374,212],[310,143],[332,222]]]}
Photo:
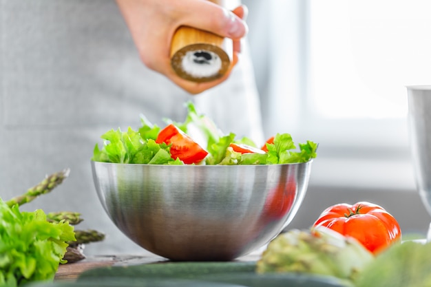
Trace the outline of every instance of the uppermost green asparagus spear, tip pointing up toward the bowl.
{"label": "uppermost green asparagus spear, tip pointing up toward the bowl", "polygon": [[15,198],[8,200],[6,204],[8,204],[9,207],[14,206],[15,204],[21,206],[22,204],[31,202],[39,195],[49,193],[50,191],[52,191],[52,189],[61,184],[61,182],[63,182],[63,180],[67,178],[67,176],[69,176],[69,172],[70,169],[64,169],[63,171],[52,173],[52,175],[47,176],[44,180],[39,182],[39,184],[36,184],[34,187],[28,189],[28,191],[23,195],[19,195]]}

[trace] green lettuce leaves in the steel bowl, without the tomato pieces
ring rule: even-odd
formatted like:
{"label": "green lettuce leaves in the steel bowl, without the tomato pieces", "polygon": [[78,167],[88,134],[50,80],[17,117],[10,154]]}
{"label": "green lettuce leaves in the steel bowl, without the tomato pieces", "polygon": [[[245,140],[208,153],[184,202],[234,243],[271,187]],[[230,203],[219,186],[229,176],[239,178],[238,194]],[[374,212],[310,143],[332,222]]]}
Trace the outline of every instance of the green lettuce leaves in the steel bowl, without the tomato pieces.
{"label": "green lettuce leaves in the steel bowl, without the tomato pieces", "polygon": [[[287,164],[307,162],[316,157],[317,144],[308,140],[299,144],[296,151],[295,143],[290,134],[277,134],[272,144],[267,144],[268,153],[238,153],[229,149],[231,143],[240,143],[256,147],[249,138],[235,139],[235,134],[222,134],[207,116],[198,114],[191,102],[186,103],[188,110],[184,123],[174,124],[189,137],[198,142],[200,147],[208,151],[205,164]],[[99,162],[132,163],[132,164],[184,164],[181,160],[171,158],[170,146],[158,144],[155,140],[160,127],[152,125],[145,116],[141,115],[142,127],[138,131],[132,128],[126,132],[117,129],[107,131],[101,138],[105,140],[103,148],[94,147],[92,160]]]}

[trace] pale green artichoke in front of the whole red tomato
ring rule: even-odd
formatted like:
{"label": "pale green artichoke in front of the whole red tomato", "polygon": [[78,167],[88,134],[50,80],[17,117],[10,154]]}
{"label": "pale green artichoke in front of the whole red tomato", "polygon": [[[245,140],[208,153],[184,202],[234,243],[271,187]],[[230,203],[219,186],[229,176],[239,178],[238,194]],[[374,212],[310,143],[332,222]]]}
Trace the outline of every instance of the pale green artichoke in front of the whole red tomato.
{"label": "pale green artichoke in front of the whole red tomato", "polygon": [[357,240],[329,228],[293,229],[268,244],[256,272],[330,275],[353,282],[373,259]]}

